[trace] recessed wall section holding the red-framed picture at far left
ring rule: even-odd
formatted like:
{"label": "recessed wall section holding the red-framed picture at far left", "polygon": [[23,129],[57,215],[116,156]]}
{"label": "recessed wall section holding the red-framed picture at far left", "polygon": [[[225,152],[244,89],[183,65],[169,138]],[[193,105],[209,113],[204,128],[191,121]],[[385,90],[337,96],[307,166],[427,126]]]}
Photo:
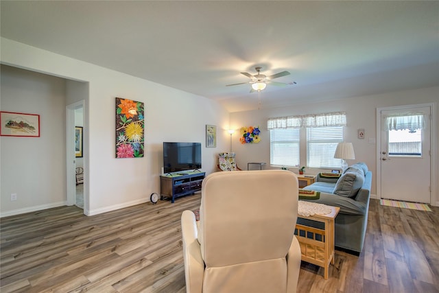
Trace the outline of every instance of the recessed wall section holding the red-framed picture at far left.
{"label": "recessed wall section holding the red-framed picture at far left", "polygon": [[2,212],[64,204],[65,90],[63,78],[1,65],[1,110],[40,115],[40,137],[0,138]]}

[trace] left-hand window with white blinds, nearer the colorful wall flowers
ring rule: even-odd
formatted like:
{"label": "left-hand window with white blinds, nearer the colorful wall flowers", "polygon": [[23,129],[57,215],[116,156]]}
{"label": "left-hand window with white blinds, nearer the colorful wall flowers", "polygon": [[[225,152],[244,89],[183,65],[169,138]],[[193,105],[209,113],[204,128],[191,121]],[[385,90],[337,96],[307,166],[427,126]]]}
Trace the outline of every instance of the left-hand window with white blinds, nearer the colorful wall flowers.
{"label": "left-hand window with white blinds, nearer the colorful wall flowers", "polygon": [[300,128],[270,130],[270,165],[296,167],[300,159]]}

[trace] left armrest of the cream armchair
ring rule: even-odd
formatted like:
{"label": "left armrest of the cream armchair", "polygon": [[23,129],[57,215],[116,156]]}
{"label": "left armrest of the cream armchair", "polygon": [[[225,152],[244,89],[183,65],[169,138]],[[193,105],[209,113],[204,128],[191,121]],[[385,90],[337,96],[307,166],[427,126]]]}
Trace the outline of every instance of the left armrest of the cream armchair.
{"label": "left armrest of the cream armchair", "polygon": [[193,211],[181,215],[183,258],[185,259],[186,292],[202,292],[204,261],[198,242],[198,228]]}

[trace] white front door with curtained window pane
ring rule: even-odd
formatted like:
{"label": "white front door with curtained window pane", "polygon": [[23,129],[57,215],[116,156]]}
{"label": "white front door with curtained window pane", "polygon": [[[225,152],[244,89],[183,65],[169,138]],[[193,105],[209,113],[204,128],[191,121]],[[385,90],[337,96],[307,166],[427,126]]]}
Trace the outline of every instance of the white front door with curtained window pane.
{"label": "white front door with curtained window pane", "polygon": [[381,108],[378,113],[379,197],[431,203],[431,106]]}

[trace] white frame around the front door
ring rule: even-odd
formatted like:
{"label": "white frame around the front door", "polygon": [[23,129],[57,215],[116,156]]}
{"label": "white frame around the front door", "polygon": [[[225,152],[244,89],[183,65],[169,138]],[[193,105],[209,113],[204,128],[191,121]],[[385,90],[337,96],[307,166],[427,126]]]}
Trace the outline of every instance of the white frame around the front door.
{"label": "white frame around the front door", "polygon": [[434,162],[436,162],[435,159],[435,153],[436,153],[436,115],[434,113],[434,103],[425,103],[425,104],[413,104],[413,105],[403,105],[403,106],[390,106],[390,107],[383,107],[383,108],[377,108],[377,197],[378,199],[381,199],[381,110],[402,110],[405,108],[423,108],[423,107],[429,107],[430,108],[430,204],[436,205],[436,202],[434,202],[435,195],[436,195],[436,178],[435,175],[435,165]]}

